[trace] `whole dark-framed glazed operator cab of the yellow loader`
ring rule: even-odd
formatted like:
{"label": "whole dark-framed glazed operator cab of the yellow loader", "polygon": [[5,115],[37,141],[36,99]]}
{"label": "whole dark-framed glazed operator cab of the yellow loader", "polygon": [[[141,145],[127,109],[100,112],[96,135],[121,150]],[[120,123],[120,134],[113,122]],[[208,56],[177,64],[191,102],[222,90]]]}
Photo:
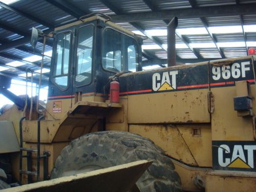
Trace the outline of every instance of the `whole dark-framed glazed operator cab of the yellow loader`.
{"label": "whole dark-framed glazed operator cab of the yellow loader", "polygon": [[48,98],[104,101],[110,76],[141,70],[141,44],[140,37],[100,16],[56,28]]}

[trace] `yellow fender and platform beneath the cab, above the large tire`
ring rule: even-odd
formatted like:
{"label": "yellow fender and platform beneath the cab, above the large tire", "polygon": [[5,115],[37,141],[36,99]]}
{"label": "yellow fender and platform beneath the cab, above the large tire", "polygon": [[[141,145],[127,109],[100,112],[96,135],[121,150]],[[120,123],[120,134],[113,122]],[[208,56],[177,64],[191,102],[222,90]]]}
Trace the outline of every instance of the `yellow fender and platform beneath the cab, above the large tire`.
{"label": "yellow fender and platform beneath the cab, above the large tire", "polygon": [[[41,142],[71,141],[91,132],[94,126],[99,125],[98,120],[103,119],[110,110],[121,108],[121,103],[79,101],[61,119],[40,122]],[[37,121],[24,121],[23,126],[24,141],[37,142]]]}

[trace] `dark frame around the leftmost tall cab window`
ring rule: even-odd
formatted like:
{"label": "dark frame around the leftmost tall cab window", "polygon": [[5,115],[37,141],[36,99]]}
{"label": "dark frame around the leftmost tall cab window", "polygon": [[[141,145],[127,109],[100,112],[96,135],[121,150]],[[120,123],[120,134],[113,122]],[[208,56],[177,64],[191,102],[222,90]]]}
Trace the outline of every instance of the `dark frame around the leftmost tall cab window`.
{"label": "dark frame around the leftmost tall cab window", "polygon": [[[72,47],[73,47],[73,30],[69,29],[69,30],[65,30],[65,31],[60,31],[58,33],[56,33],[56,37],[58,34],[60,33],[70,33],[70,51],[69,51],[69,68],[68,68],[68,73],[67,74],[61,74],[61,75],[54,75],[54,72],[55,72],[55,65],[56,65],[56,53],[57,53],[57,38],[55,38],[54,40],[54,47],[53,47],[53,58],[52,58],[52,62],[51,62],[51,66],[52,66],[52,72],[51,72],[51,75],[50,75],[50,79],[52,81],[52,83],[55,84],[56,87],[58,87],[61,91],[66,91],[69,89],[70,87],[70,74],[71,74],[71,53],[72,53]],[[54,80],[54,78],[56,77],[65,77],[67,76],[68,77],[68,80],[67,80],[67,87],[65,89],[63,89],[58,83],[56,83],[56,81]]]}

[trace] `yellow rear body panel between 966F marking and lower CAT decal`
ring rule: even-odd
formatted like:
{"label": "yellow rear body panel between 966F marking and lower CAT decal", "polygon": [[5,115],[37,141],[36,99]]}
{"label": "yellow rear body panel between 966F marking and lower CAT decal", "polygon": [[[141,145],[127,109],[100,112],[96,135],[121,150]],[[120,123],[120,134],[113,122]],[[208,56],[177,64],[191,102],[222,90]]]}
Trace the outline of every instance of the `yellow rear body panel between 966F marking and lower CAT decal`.
{"label": "yellow rear body panel between 966F marking and lower CAT decal", "polygon": [[[251,85],[255,95],[255,85]],[[238,117],[233,109],[233,97],[236,96],[236,87],[212,88],[215,96],[215,111],[211,115],[212,140],[223,141],[253,141],[252,118]],[[253,110],[255,110],[255,102]],[[255,113],[255,112],[254,112]]]}

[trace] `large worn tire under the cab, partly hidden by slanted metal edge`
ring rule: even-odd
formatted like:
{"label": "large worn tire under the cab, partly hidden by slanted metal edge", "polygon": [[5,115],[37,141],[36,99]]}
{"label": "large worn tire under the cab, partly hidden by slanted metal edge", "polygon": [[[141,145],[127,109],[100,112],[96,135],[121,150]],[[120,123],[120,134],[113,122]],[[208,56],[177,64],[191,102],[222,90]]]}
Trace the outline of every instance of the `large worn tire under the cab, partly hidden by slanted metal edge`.
{"label": "large worn tire under the cab, partly hidden by slanted metal edge", "polygon": [[174,171],[174,164],[161,148],[151,140],[129,132],[97,132],[73,140],[56,159],[51,178],[141,159],[153,160],[137,182],[141,191],[181,191],[180,177]]}

